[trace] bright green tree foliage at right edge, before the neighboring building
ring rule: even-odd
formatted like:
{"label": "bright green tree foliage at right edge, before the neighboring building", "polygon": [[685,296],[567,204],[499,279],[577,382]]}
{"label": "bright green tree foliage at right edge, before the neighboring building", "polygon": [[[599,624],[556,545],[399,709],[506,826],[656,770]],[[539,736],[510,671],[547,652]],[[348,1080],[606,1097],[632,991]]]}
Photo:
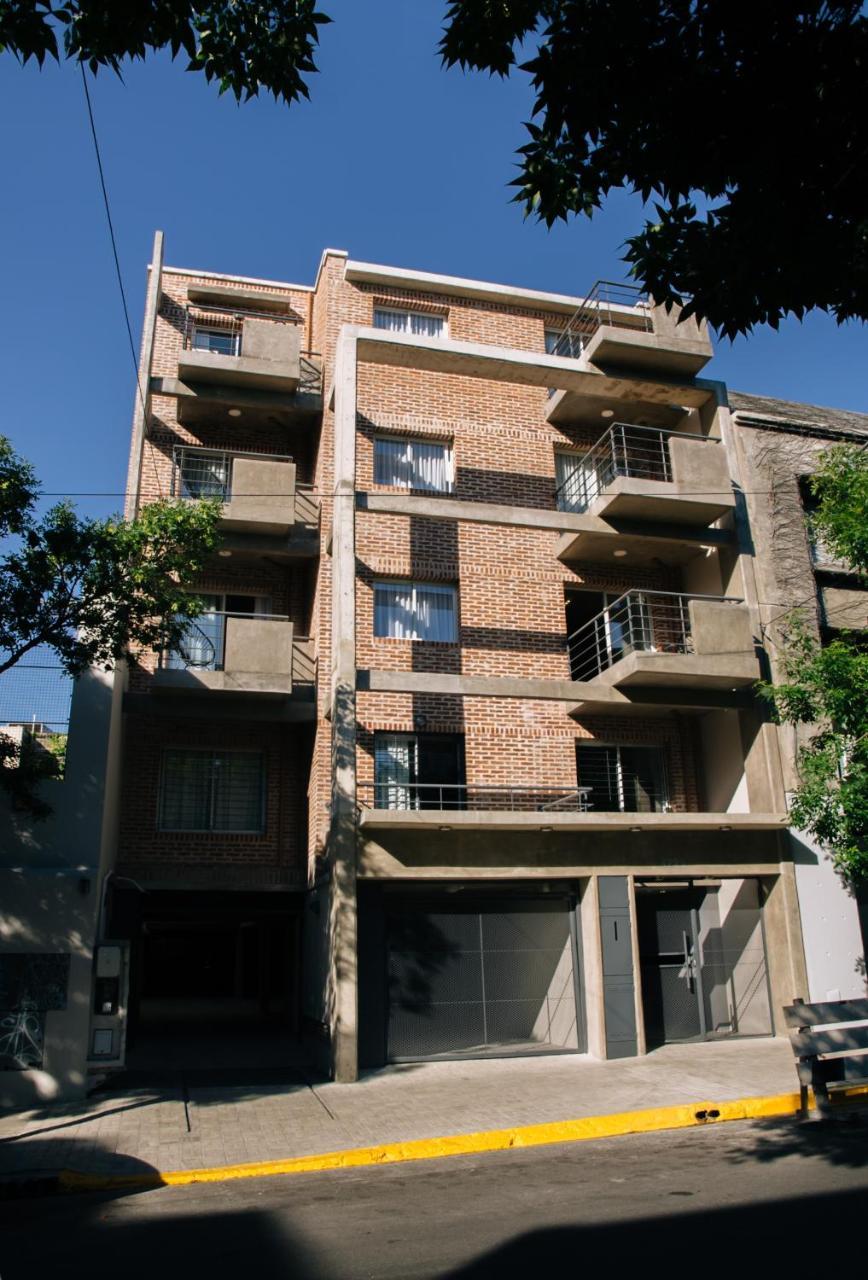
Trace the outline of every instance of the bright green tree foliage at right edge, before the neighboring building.
{"label": "bright green tree foliage at right edge, before the neighboring building", "polygon": [[[833,556],[868,573],[868,453],[839,445],[812,483],[819,499],[813,530]],[[851,881],[868,879],[868,644],[842,632],[821,645],[794,613],[784,639],[784,682],[762,692],[777,718],[810,726],[799,749],[795,826],[824,845]]]}

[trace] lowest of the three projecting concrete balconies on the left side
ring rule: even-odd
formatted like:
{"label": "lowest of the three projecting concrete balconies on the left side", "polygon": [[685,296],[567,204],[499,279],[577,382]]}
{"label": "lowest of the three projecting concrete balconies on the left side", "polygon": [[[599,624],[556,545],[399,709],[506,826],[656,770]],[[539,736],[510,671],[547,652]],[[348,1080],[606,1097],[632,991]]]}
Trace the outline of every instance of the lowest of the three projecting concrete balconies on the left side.
{"label": "lowest of the three projecting concrete balconies on the left side", "polygon": [[315,684],[312,640],[277,614],[204,613],[154,673],[155,692],[165,694],[289,698]]}

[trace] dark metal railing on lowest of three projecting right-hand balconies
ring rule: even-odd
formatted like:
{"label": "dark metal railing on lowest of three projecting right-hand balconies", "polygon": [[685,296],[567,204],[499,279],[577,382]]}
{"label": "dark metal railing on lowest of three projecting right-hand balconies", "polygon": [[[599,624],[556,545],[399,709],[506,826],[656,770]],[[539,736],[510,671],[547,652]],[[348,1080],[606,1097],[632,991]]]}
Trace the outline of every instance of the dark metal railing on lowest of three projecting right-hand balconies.
{"label": "dark metal railing on lowest of three projecting right-hand balconies", "polygon": [[567,637],[572,680],[594,680],[631,653],[691,653],[690,600],[741,604],[726,595],[625,591]]}

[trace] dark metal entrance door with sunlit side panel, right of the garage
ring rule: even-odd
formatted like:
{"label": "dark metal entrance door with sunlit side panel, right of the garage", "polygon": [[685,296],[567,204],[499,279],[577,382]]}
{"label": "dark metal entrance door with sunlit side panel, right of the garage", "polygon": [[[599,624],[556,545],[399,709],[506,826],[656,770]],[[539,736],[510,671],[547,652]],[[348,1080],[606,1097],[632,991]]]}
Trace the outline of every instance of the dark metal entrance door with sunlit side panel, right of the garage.
{"label": "dark metal entrance door with sunlit side panel, right of the garage", "polygon": [[648,1048],[772,1033],[755,879],[636,886]]}

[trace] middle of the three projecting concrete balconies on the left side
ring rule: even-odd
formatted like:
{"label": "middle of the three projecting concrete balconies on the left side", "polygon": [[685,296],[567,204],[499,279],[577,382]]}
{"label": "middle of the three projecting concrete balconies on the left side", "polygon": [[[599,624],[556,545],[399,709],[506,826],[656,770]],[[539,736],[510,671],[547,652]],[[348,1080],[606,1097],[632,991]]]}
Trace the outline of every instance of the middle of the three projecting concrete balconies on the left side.
{"label": "middle of the three projecting concrete balconies on the left side", "polygon": [[175,445],[172,462],[173,497],[220,499],[225,530],[283,536],[319,530],[319,502],[296,484],[291,457]]}

